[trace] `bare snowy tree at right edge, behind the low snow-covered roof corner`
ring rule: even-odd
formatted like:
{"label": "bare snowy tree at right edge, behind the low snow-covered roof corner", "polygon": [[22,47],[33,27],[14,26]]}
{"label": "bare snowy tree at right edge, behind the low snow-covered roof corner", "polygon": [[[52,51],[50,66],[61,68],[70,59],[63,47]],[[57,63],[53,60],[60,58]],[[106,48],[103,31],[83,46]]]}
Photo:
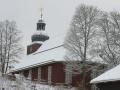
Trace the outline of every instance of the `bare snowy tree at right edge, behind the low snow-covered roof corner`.
{"label": "bare snowy tree at right edge, behind the low snow-covered roof corner", "polygon": [[99,25],[103,38],[99,55],[112,68],[120,63],[120,13],[104,13]]}

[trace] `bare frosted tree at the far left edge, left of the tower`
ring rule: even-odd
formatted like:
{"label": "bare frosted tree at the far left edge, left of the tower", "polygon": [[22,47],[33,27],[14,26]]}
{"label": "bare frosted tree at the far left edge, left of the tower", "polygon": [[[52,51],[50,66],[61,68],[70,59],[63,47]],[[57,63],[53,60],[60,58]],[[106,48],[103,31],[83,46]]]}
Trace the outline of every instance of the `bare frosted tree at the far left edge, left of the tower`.
{"label": "bare frosted tree at the far left edge, left of the tower", "polygon": [[22,51],[20,39],[20,31],[14,21],[0,22],[0,64],[2,73],[6,73],[10,62],[16,61],[20,56]]}

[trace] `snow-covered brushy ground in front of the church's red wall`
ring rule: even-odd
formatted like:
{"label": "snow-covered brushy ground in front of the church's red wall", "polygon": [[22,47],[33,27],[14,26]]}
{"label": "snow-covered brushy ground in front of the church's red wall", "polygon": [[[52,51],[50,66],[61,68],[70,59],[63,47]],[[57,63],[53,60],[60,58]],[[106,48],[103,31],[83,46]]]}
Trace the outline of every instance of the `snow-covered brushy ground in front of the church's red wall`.
{"label": "snow-covered brushy ground in front of the church's red wall", "polygon": [[77,90],[64,86],[50,86],[32,83],[23,77],[17,77],[16,81],[10,81],[7,77],[0,76],[0,90]]}

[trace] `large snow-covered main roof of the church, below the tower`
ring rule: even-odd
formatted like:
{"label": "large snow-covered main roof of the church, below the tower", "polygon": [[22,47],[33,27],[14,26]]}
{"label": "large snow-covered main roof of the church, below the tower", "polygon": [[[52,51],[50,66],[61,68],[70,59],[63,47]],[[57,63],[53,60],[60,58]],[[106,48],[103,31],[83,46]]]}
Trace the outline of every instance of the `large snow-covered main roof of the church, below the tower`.
{"label": "large snow-covered main roof of the church, below the tower", "polygon": [[45,41],[35,53],[25,56],[21,62],[15,66],[13,71],[35,67],[54,61],[64,61],[65,49],[62,46],[63,41],[63,37]]}

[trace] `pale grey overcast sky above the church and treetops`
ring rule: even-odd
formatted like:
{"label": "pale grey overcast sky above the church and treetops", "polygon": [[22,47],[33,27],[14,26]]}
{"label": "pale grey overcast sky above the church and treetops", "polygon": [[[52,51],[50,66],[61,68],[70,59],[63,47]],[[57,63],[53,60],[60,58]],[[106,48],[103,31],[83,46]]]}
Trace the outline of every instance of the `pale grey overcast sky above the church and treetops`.
{"label": "pale grey overcast sky above the church and treetops", "polygon": [[14,20],[22,31],[26,46],[36,30],[40,8],[44,8],[46,32],[51,38],[65,35],[79,4],[97,6],[104,11],[120,11],[120,0],[0,0],[0,21]]}

